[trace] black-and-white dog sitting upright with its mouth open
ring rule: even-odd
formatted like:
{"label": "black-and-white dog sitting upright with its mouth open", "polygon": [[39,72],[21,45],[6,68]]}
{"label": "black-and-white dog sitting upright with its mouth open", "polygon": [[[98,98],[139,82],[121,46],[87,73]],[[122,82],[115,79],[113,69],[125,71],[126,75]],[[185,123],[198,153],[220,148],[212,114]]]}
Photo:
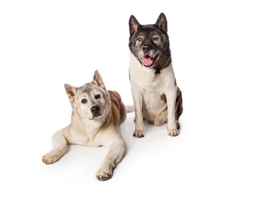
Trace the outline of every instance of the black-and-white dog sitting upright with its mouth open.
{"label": "black-and-white dog sitting upright with its mouth open", "polygon": [[143,120],[155,126],[167,122],[168,135],[177,136],[183,112],[182,94],[172,68],[167,19],[161,13],[152,25],[129,19],[129,77],[135,107],[134,137],[144,137]]}

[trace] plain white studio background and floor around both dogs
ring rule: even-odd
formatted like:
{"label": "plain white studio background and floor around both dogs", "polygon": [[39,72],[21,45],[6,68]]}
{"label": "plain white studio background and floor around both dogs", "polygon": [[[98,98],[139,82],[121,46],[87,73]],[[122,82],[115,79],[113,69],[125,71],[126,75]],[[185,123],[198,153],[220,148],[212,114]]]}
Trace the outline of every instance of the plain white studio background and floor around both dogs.
{"label": "plain white studio background and floor around both dogs", "polygon": [[[133,104],[128,20],[152,24],[160,12],[183,94],[180,135],[145,123],[134,138],[131,113],[121,125],[128,153],[110,180],[95,178],[105,147],[72,145],[42,163],[70,124],[64,83],[82,86],[98,69]],[[1,196],[255,197],[255,19],[245,0],[1,1]]]}

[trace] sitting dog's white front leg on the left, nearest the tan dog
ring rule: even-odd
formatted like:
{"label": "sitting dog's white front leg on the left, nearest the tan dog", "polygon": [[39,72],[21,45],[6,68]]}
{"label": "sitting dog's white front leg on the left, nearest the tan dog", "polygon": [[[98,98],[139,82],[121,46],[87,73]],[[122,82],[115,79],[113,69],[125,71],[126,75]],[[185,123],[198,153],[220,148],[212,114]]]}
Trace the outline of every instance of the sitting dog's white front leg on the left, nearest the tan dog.
{"label": "sitting dog's white front leg on the left, nearest the tan dog", "polygon": [[144,124],[142,116],[142,100],[143,95],[137,91],[133,91],[132,88],[132,97],[134,100],[135,107],[135,131],[133,133],[134,137],[144,137]]}

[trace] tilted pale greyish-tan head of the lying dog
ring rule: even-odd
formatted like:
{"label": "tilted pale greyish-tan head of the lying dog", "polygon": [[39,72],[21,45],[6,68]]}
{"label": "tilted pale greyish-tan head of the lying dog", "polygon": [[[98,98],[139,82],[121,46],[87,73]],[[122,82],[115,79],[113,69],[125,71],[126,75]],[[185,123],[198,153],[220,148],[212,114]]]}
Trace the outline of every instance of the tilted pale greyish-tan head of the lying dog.
{"label": "tilted pale greyish-tan head of the lying dog", "polygon": [[79,88],[65,84],[65,89],[73,111],[82,119],[96,120],[108,114],[110,96],[99,71],[94,72],[91,83],[85,83]]}

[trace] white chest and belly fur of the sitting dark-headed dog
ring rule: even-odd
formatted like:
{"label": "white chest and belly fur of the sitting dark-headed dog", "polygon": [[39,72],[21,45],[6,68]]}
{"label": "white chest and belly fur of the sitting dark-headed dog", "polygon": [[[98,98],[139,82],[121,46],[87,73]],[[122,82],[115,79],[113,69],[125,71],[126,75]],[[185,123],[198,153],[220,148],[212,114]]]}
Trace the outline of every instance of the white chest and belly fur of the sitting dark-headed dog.
{"label": "white chest and belly fur of the sitting dark-headed dog", "polygon": [[175,75],[172,63],[160,74],[155,74],[154,69],[142,66],[140,62],[130,53],[130,78],[131,89],[143,95],[143,109],[150,114],[159,114],[167,104],[161,99],[161,95],[168,89],[175,88]]}

